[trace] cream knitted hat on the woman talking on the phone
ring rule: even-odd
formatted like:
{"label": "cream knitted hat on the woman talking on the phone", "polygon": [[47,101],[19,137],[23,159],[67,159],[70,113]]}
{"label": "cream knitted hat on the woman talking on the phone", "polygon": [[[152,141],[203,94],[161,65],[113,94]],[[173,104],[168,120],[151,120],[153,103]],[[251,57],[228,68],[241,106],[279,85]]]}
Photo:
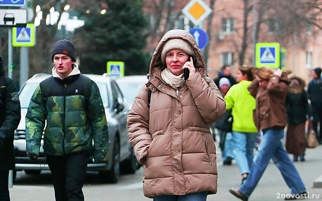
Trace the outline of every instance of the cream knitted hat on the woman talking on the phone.
{"label": "cream knitted hat on the woman talking on the phone", "polygon": [[195,55],[195,52],[193,51],[192,46],[187,41],[179,38],[170,39],[169,41],[166,42],[166,44],[162,48],[162,51],[161,51],[162,63],[166,63],[166,55],[170,50],[173,50],[173,49],[183,50],[190,56]]}

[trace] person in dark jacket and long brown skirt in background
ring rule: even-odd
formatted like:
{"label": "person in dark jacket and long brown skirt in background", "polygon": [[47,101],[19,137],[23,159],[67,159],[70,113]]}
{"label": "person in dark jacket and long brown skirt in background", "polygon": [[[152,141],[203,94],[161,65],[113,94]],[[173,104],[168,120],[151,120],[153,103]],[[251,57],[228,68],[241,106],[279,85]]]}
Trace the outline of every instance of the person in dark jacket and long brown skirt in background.
{"label": "person in dark jacket and long brown skirt in background", "polygon": [[286,151],[293,154],[293,161],[305,161],[305,121],[311,116],[303,79],[292,76],[286,96],[287,134]]}

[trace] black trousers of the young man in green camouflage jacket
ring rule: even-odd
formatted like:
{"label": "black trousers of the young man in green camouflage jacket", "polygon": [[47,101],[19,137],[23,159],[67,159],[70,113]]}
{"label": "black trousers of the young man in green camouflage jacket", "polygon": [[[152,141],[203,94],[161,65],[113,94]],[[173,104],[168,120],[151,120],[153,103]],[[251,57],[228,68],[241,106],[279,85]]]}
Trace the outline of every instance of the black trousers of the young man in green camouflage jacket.
{"label": "black trousers of the young man in green camouflage jacket", "polygon": [[82,191],[90,152],[48,156],[56,201],[83,201]]}

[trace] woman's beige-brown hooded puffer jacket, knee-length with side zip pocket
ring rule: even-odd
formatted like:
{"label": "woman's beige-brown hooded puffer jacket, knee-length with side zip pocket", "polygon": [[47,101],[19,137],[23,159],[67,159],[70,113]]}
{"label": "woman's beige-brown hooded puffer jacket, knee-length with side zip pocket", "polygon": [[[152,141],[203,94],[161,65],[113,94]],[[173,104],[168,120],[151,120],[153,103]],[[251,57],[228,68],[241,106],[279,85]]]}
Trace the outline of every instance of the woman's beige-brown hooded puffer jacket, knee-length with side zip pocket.
{"label": "woman's beige-brown hooded puffer jacket, knee-length with side zip pocket", "polygon": [[[160,52],[170,39],[188,41],[195,51],[197,72],[179,90],[161,78]],[[217,192],[216,148],[209,124],[225,112],[225,102],[193,36],[171,30],[159,42],[150,63],[150,76],[136,95],[127,119],[128,137],[143,164],[147,197]],[[150,109],[148,89],[152,91]]]}

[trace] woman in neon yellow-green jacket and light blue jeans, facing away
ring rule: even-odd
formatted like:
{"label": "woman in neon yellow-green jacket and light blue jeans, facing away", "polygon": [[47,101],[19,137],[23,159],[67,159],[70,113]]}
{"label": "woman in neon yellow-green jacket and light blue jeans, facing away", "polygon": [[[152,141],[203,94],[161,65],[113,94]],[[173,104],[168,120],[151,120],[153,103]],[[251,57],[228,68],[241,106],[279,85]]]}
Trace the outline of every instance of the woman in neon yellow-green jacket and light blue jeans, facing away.
{"label": "woman in neon yellow-green jacket and light blue jeans, facing away", "polygon": [[248,90],[254,79],[253,66],[240,66],[236,79],[238,84],[231,86],[225,98],[226,110],[232,110],[232,140],[234,155],[240,174],[241,183],[245,182],[253,164],[257,128],[253,121],[256,100]]}

